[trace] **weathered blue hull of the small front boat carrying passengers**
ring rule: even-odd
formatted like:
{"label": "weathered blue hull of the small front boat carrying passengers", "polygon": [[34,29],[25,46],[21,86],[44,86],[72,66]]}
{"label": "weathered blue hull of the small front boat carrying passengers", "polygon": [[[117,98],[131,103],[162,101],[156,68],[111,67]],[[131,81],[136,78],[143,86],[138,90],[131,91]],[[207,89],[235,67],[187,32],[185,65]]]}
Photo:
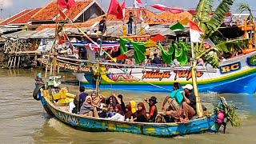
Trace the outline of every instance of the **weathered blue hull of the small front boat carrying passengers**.
{"label": "weathered blue hull of the small front boat carrying passengers", "polygon": [[220,127],[216,123],[215,114],[188,123],[121,122],[111,121],[106,118],[88,118],[78,114],[70,114],[66,110],[56,108],[47,98],[45,102],[51,113],[53,113],[58,120],[76,129],[92,132],[126,132],[155,137],[174,137],[177,135],[196,134],[205,131],[217,132]]}

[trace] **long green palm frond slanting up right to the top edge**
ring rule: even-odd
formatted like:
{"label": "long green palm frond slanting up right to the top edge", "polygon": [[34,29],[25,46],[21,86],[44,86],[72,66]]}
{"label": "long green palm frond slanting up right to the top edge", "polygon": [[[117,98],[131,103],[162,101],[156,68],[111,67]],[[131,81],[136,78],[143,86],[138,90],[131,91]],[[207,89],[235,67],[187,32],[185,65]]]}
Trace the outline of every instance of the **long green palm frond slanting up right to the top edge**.
{"label": "long green palm frond slanting up right to the top edge", "polygon": [[226,18],[226,13],[229,12],[230,6],[232,6],[234,0],[222,0],[218,5],[217,9],[214,11],[214,15],[210,18],[210,22],[207,24],[205,38],[210,38],[212,34],[222,25],[224,19]]}

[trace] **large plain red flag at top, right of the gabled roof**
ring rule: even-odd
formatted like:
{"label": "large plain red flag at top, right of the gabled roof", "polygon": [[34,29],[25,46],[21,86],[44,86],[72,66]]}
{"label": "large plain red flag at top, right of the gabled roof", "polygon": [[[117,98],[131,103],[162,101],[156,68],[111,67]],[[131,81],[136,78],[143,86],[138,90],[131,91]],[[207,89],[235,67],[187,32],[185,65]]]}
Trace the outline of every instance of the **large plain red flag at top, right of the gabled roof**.
{"label": "large plain red flag at top, right of the gabled roof", "polygon": [[107,14],[112,14],[116,16],[118,19],[123,18],[122,8],[118,0],[111,0],[109,10],[107,10]]}

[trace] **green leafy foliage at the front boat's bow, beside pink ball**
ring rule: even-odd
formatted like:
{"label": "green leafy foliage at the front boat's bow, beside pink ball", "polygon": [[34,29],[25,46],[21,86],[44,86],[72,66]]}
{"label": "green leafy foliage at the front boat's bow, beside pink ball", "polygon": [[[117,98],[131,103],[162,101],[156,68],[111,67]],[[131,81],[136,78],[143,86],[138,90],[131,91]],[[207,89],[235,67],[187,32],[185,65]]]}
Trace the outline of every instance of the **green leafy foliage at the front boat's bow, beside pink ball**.
{"label": "green leafy foliage at the front boat's bow, beside pink ball", "polygon": [[218,104],[214,104],[214,112],[218,114],[218,111],[221,110],[224,114],[224,117],[226,118],[226,122],[224,120],[224,123],[230,122],[231,126],[239,127],[241,126],[240,118],[238,117],[238,114],[236,112],[236,108],[233,105],[228,105],[226,103],[226,100],[222,98],[222,106],[219,106]]}

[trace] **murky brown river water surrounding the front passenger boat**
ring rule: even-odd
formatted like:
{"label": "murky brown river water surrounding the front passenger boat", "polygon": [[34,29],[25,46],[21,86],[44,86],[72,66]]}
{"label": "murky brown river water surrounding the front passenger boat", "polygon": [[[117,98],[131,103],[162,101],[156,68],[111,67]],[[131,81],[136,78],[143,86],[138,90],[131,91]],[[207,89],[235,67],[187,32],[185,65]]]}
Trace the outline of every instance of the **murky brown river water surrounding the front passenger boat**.
{"label": "murky brown river water surrounding the front passenger boat", "polygon": [[[203,133],[178,136],[174,138],[155,138],[139,134],[126,133],[90,133],[74,130],[59,122],[56,118],[47,117],[41,102],[32,98],[34,77],[40,70],[2,70],[0,69],[0,143],[256,143],[256,96],[242,94],[221,94],[227,102],[238,108],[242,127],[227,127],[226,134],[222,129],[217,134]],[[42,75],[44,72],[42,71]],[[62,73],[66,79],[72,79]],[[69,90],[78,94],[78,86]],[[125,102],[134,99],[143,102],[143,98],[156,96],[158,105],[168,93],[131,92],[123,90],[102,90],[102,94],[123,94]],[[202,99],[218,102],[217,94],[202,94]],[[213,106],[204,103],[208,110]],[[158,110],[160,106],[158,106]]]}

